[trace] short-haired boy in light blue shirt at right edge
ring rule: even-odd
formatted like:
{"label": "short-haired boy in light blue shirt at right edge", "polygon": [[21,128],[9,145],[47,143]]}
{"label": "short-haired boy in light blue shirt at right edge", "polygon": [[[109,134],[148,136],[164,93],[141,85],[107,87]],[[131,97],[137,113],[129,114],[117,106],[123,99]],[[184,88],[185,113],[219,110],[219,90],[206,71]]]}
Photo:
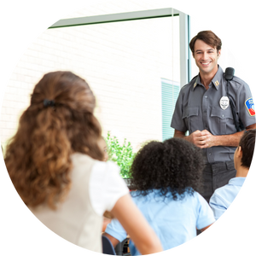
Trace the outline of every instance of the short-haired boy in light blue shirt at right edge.
{"label": "short-haired boy in light blue shirt at right edge", "polygon": [[217,223],[235,206],[253,170],[256,155],[256,130],[245,131],[234,154],[236,177],[214,191],[209,203]]}

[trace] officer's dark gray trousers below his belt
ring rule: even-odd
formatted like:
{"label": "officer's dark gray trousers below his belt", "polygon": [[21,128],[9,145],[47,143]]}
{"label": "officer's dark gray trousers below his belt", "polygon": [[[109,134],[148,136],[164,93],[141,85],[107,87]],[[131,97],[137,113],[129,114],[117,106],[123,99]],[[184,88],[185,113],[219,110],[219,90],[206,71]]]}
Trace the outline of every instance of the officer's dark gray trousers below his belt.
{"label": "officer's dark gray trousers below his belt", "polygon": [[[223,187],[229,183],[230,178],[236,177],[234,161],[218,162],[207,164],[203,170],[203,187],[199,193],[209,203],[215,189]],[[197,231],[197,236],[201,237],[201,231]]]}

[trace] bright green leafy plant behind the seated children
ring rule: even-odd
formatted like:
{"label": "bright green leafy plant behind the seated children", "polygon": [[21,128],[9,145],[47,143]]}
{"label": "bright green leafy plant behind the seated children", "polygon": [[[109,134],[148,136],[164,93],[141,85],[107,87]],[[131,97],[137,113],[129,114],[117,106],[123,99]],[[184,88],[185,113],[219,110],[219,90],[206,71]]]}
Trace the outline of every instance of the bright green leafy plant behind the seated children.
{"label": "bright green leafy plant behind the seated children", "polygon": [[121,177],[130,178],[131,164],[135,156],[131,143],[126,143],[125,139],[123,145],[120,145],[116,137],[110,136],[110,131],[108,131],[105,141],[108,145],[108,160],[112,160],[120,167]]}

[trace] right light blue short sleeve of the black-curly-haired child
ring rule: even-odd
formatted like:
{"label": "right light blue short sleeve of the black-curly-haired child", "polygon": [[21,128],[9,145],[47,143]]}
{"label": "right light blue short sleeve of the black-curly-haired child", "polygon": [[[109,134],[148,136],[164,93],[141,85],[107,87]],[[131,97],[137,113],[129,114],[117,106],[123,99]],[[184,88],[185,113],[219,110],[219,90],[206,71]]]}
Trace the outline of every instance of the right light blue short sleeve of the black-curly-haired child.
{"label": "right light blue short sleeve of the black-curly-haired child", "polygon": [[208,225],[215,223],[215,218],[211,207],[209,207],[207,201],[198,194],[198,217],[196,221],[196,228],[201,230]]}

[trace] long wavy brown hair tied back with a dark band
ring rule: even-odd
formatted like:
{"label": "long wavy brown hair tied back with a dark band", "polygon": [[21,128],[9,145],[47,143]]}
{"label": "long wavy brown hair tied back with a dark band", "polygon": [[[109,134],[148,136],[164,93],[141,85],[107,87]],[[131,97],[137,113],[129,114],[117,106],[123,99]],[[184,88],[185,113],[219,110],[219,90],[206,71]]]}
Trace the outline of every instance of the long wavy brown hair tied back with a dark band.
{"label": "long wavy brown hair tied back with a dark band", "polygon": [[[44,100],[55,106],[44,106]],[[93,111],[96,99],[84,79],[71,72],[46,73],[9,140],[3,169],[10,186],[27,206],[63,201],[71,187],[71,154],[102,160],[97,140],[102,128]]]}

